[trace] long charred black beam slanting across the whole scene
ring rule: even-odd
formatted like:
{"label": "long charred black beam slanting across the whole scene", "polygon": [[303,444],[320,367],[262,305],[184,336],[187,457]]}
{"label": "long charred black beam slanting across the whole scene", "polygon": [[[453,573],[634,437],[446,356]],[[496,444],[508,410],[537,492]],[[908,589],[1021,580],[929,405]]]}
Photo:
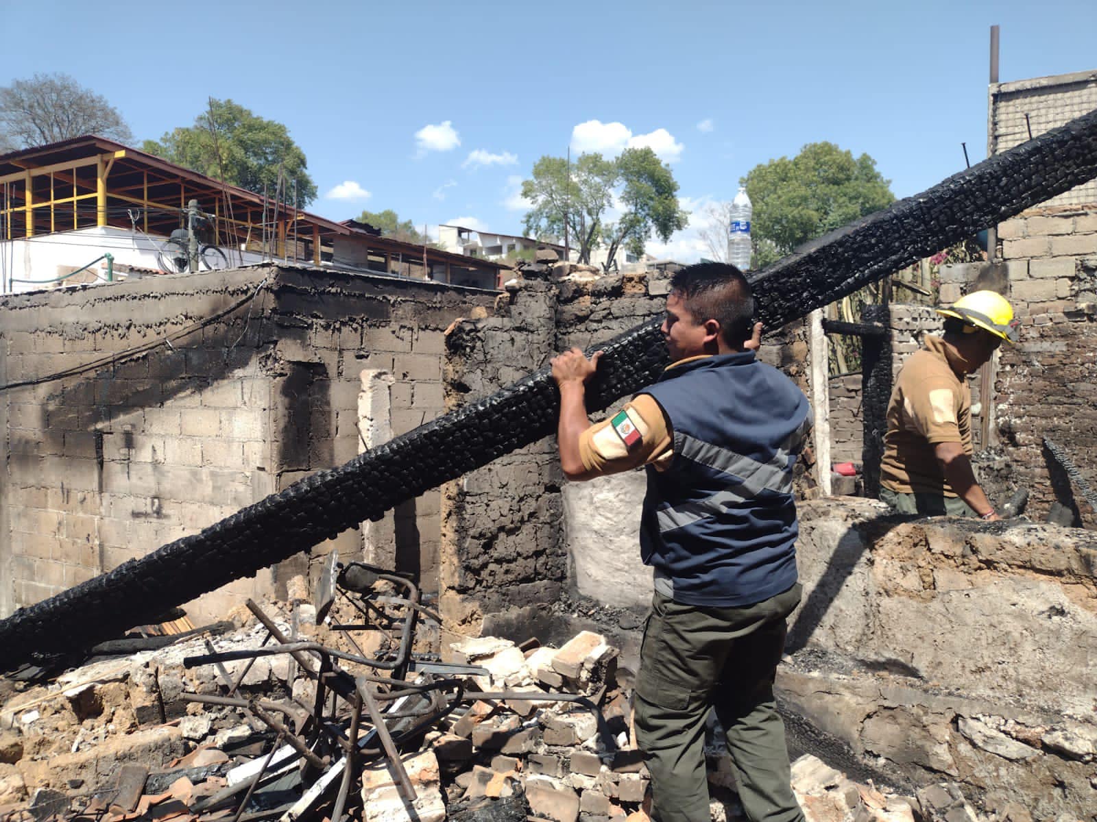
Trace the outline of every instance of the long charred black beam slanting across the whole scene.
{"label": "long charred black beam slanting across the whole scene", "polygon": [[[1097,176],[1097,111],[796,249],[751,277],[758,319],[776,329],[987,226]],[[599,346],[590,410],[652,383],[667,363],[658,319]],[[866,341],[872,338],[866,338]],[[319,471],[200,534],[20,608],[0,623],[0,660],[76,651],[252,576],[405,500],[553,433],[547,368]]]}

